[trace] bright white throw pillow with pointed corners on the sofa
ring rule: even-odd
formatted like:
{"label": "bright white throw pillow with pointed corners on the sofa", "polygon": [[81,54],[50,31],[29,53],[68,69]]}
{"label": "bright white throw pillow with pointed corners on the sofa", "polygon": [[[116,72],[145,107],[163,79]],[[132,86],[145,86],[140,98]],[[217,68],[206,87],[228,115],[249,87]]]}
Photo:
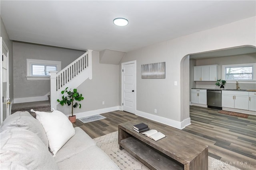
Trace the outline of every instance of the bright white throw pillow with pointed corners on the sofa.
{"label": "bright white throw pillow with pointed corners on the sofa", "polygon": [[68,117],[61,111],[52,112],[35,111],[36,119],[40,121],[46,132],[50,151],[53,156],[60,148],[75,135],[75,129]]}

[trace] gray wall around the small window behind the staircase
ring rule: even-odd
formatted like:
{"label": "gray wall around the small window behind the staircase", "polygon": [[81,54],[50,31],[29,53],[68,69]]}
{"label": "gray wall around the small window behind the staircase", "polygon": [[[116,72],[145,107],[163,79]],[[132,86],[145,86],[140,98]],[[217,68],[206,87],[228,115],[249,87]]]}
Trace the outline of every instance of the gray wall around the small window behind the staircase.
{"label": "gray wall around the small window behind the staircase", "polygon": [[83,53],[85,53],[85,51],[14,41],[14,98],[45,96],[48,92],[50,92],[50,80],[26,79],[26,59],[61,61],[62,68],[65,68]]}

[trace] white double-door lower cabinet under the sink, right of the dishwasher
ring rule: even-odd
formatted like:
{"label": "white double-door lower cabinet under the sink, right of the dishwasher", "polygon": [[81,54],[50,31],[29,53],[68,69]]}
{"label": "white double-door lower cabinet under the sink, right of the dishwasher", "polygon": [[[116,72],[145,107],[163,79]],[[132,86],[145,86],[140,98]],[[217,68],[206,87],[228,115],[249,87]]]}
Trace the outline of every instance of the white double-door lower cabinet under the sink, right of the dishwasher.
{"label": "white double-door lower cabinet under the sink, right of the dishwasher", "polygon": [[249,92],[222,90],[222,107],[249,109]]}

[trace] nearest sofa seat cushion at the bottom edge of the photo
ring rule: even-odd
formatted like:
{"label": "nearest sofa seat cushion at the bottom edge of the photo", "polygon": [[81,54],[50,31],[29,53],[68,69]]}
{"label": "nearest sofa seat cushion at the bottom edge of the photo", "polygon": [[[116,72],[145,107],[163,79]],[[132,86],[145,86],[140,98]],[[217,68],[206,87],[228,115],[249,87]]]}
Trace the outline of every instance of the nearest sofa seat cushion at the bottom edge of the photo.
{"label": "nearest sofa seat cushion at the bottom edge of the photo", "polygon": [[58,163],[63,170],[119,170],[108,155],[97,146],[91,146]]}

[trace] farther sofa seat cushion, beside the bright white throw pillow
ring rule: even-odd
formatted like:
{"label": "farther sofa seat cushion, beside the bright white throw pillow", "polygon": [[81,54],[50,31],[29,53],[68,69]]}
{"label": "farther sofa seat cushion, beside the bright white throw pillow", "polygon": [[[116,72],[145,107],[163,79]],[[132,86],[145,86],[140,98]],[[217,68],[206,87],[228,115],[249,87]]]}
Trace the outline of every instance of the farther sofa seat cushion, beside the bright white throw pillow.
{"label": "farther sofa seat cushion, beside the bright white throw pillow", "polygon": [[95,141],[80,127],[75,127],[74,129],[76,134],[63,145],[54,157],[57,163],[70,158],[74,154],[77,154],[88,147],[96,145]]}

